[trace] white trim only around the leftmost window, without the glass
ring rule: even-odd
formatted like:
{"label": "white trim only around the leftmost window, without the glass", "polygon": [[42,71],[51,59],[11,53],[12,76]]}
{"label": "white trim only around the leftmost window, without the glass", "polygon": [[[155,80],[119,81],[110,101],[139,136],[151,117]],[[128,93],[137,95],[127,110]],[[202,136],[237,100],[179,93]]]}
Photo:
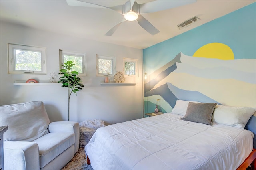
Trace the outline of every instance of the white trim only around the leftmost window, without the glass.
{"label": "white trim only around the leftmost window, without the glass", "polygon": [[[14,56],[15,49],[41,52],[42,71],[16,70],[15,63],[14,63],[16,61]],[[9,74],[46,74],[46,48],[8,43],[8,70],[9,70],[8,72]]]}

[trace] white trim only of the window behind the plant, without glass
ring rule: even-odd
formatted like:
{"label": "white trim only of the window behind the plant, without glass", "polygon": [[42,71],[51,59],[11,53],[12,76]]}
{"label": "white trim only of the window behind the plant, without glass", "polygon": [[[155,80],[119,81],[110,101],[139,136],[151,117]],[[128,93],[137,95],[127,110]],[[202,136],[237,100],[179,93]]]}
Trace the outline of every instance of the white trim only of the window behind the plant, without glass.
{"label": "white trim only of the window behind the plant, without glass", "polygon": [[[70,52],[70,51],[63,51],[60,49],[60,64],[64,65],[64,58],[63,55],[77,55],[82,56],[82,67],[83,73],[79,73],[78,76],[86,76],[86,54],[85,53],[77,53],[77,52]],[[60,69],[62,66],[60,65]]]}

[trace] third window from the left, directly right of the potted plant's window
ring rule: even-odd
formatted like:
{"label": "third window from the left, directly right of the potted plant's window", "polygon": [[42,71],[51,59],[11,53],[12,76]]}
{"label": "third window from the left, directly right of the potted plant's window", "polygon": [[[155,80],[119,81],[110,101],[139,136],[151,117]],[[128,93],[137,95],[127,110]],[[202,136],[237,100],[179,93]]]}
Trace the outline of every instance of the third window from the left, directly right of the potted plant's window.
{"label": "third window from the left, directly right of the potted plant's window", "polygon": [[115,57],[107,57],[102,55],[96,55],[97,59],[97,75],[113,75],[116,73],[116,59]]}

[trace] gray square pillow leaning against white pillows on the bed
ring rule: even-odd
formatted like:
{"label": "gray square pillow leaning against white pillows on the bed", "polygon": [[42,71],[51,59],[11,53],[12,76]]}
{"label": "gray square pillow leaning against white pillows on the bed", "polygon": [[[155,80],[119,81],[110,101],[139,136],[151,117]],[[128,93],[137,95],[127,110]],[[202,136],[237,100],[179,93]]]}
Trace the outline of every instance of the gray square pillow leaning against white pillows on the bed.
{"label": "gray square pillow leaning against white pillows on the bed", "polygon": [[211,125],[212,113],[217,103],[188,103],[186,115],[182,118],[184,121],[204,123]]}

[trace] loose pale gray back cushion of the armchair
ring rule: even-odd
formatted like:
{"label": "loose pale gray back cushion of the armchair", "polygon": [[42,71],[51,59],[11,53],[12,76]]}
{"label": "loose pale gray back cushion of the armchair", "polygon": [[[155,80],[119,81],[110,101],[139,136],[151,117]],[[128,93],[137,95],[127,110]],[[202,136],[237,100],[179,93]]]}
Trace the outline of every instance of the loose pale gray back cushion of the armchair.
{"label": "loose pale gray back cushion of the armchair", "polygon": [[9,126],[4,141],[33,141],[48,133],[50,120],[42,101],[1,106],[0,117],[0,125]]}

